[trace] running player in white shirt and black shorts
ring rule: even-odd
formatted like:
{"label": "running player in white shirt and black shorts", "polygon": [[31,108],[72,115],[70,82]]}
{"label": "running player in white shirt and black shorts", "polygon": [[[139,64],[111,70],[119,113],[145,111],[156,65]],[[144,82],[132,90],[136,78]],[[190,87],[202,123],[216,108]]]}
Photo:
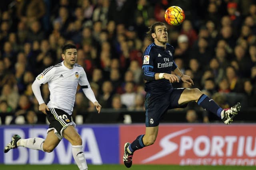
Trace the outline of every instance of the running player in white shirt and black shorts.
{"label": "running player in white shirt and black shorts", "polygon": [[[44,152],[52,152],[64,137],[72,145],[72,153],[80,170],[87,170],[87,164],[82,149],[82,139],[75,129],[75,123],[71,115],[75,102],[76,88],[78,84],[86,97],[94,103],[98,113],[101,106],[90,88],[84,68],[76,64],[77,50],[73,44],[62,47],[62,63],[46,68],[36,77],[32,84],[32,90],[39,103],[39,110],[46,114],[50,122],[46,139],[39,137],[21,139],[14,135],[12,141],[4,148],[4,152],[17,147],[27,147]],[[48,83],[50,101],[46,105],[41,96],[41,84]]]}

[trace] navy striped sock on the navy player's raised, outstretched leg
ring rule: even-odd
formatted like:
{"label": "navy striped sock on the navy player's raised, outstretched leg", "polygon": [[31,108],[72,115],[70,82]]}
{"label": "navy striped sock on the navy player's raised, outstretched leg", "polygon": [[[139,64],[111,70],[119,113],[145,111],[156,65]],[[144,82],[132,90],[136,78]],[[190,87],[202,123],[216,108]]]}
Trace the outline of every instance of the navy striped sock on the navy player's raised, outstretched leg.
{"label": "navy striped sock on the navy player's raised, outstretched leg", "polygon": [[203,107],[203,109],[206,109],[207,111],[216,114],[218,117],[221,117],[220,113],[223,109],[220,106],[218,106],[218,104],[216,104],[216,102],[210,99],[207,95],[202,94],[202,96],[200,96],[200,98],[198,99],[197,104]]}

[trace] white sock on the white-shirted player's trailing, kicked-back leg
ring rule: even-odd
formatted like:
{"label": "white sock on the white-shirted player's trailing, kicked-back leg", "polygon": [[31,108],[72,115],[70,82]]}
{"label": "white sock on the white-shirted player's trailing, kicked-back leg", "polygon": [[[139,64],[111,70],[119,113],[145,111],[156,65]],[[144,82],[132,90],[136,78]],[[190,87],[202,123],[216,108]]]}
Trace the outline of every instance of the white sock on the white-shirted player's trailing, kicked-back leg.
{"label": "white sock on the white-shirted player's trailing, kicked-back leg", "polygon": [[42,145],[43,143],[44,143],[44,139],[39,138],[39,137],[34,137],[34,138],[18,140],[17,146],[44,151],[43,145]]}

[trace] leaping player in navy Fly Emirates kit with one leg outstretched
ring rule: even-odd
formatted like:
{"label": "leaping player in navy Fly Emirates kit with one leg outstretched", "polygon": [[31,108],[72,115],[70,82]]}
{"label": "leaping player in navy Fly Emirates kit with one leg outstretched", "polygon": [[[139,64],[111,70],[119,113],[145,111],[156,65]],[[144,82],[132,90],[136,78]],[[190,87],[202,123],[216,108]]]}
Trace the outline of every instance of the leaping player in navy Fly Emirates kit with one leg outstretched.
{"label": "leaping player in navy Fly Emirates kit with one leg outstretched", "polygon": [[[135,150],[154,144],[158,125],[168,109],[186,107],[188,102],[197,102],[202,108],[216,114],[225,124],[230,124],[240,110],[240,103],[229,109],[222,109],[214,100],[198,88],[173,88],[172,83],[182,82],[194,85],[190,76],[185,75],[174,62],[174,47],[168,44],[168,32],[162,22],[154,23],[147,32],[152,41],[143,55],[142,70],[146,80],[146,133],[139,135],[132,143],[124,144],[124,165],[132,166]],[[171,74],[171,72],[174,74]],[[180,77],[180,79],[178,78]]]}

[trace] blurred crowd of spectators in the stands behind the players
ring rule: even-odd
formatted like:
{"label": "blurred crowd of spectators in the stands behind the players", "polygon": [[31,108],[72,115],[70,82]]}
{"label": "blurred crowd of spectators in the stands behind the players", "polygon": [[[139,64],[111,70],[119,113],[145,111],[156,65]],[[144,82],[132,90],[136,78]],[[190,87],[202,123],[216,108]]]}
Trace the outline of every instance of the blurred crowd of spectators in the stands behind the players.
{"label": "blurred crowd of spectators in the stands behind the players", "polygon": [[[146,31],[155,21],[165,22],[164,12],[172,5],[180,6],[186,19],[179,26],[167,25],[169,41],[176,64],[194,80],[193,87],[223,108],[236,102],[244,109],[256,107],[255,0],[4,0],[1,123],[45,123],[38,118],[31,84],[45,68],[62,61],[65,43],[76,44],[77,63],[86,70],[103,111],[144,111]],[[47,84],[41,92],[47,103]],[[187,109],[187,121],[198,121],[196,105]],[[95,107],[78,86],[73,116],[90,111]],[[13,115],[6,119],[4,113]],[[208,122],[208,113],[199,121]]]}

